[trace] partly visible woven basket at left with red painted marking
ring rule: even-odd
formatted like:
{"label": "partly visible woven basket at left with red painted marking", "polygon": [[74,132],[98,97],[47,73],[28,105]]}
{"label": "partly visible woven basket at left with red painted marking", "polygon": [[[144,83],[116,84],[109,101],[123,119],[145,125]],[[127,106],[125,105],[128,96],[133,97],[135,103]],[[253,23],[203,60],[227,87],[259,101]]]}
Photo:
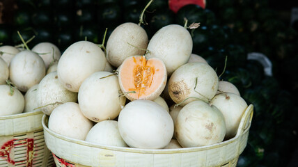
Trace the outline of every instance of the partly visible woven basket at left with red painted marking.
{"label": "partly visible woven basket at left with red painted marking", "polygon": [[45,145],[42,111],[0,116],[0,167],[54,166]]}

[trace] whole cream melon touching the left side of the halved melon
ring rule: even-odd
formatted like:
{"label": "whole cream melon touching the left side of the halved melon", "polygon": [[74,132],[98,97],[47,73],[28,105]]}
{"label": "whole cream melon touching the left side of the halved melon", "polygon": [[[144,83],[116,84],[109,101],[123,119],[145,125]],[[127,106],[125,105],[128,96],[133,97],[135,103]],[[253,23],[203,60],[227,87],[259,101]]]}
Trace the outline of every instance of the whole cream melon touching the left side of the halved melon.
{"label": "whole cream melon touching the left side of the halved melon", "polygon": [[79,88],[79,106],[84,116],[93,122],[113,120],[125,105],[126,97],[120,94],[118,77],[115,74],[95,72]]}

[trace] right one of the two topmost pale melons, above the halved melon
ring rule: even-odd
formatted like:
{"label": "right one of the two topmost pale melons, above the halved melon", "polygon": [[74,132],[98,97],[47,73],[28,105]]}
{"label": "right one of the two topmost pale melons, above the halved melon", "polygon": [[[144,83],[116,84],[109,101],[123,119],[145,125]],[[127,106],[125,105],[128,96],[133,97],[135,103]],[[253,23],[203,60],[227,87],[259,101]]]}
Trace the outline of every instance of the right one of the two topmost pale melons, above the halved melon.
{"label": "right one of the two topmost pale melons, above the halved melon", "polygon": [[178,24],[162,27],[148,43],[147,58],[160,58],[170,76],[178,67],[189,61],[193,42],[187,29]]}

